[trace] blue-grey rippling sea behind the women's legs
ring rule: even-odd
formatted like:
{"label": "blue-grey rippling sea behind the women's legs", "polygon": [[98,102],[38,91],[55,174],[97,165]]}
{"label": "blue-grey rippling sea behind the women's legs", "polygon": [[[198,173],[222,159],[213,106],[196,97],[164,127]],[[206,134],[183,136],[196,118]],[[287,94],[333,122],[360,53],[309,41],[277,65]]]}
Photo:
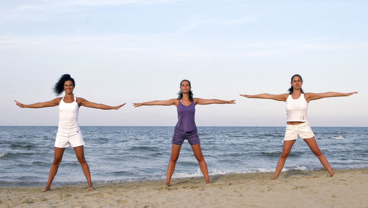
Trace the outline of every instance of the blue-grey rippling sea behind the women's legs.
{"label": "blue-grey rippling sea behind the women's legs", "polygon": [[[81,126],[96,184],[166,179],[174,127]],[[312,127],[333,169],[368,168],[368,127]],[[57,126],[0,126],[0,187],[45,186]],[[198,127],[209,175],[274,172],[285,127]],[[283,171],[323,169],[307,144],[294,143]],[[327,174],[327,172],[326,172]],[[191,146],[181,147],[173,178],[202,176]],[[53,186],[86,184],[67,147]]]}

